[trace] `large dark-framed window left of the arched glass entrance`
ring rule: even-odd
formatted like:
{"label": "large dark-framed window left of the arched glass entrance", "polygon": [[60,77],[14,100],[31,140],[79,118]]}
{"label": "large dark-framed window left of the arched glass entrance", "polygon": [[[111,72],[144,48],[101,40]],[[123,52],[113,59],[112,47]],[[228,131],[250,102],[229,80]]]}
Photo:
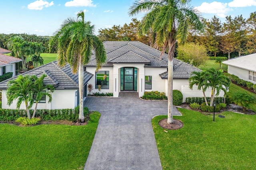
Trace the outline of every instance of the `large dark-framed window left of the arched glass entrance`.
{"label": "large dark-framed window left of the arched glass entrance", "polygon": [[96,72],[96,89],[98,89],[98,85],[101,89],[109,89],[109,71]]}

